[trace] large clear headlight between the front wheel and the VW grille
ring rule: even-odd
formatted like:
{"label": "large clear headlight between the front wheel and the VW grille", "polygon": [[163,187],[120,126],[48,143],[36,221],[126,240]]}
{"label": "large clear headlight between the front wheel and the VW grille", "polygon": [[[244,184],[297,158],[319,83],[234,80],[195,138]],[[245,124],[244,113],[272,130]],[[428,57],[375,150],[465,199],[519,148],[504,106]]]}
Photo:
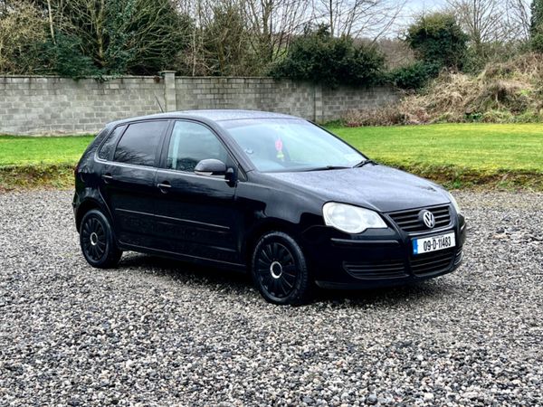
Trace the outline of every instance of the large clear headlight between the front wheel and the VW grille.
{"label": "large clear headlight between the front wheel and the VW grille", "polygon": [[329,202],[322,207],[322,214],[327,226],[333,226],[341,232],[361,233],[370,228],[387,227],[376,212],[353,205]]}

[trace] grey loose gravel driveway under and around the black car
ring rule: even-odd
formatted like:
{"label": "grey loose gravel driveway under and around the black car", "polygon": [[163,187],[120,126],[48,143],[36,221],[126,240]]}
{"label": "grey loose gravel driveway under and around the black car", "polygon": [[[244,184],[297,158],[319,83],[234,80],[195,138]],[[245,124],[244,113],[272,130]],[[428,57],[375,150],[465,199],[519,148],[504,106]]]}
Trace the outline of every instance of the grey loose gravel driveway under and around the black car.
{"label": "grey loose gravel driveway under and around the black car", "polygon": [[543,194],[458,194],[464,264],[265,303],[249,279],[83,260],[71,193],[0,194],[0,405],[543,405]]}

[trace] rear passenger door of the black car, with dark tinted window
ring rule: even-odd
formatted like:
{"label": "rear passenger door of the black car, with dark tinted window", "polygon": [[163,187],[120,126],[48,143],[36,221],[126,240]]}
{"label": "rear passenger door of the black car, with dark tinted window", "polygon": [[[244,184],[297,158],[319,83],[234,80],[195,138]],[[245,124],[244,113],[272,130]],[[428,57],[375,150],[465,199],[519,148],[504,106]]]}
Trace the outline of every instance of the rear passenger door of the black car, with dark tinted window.
{"label": "rear passenger door of the black car, with dark tinted window", "polygon": [[[119,129],[122,134],[114,152],[102,166],[100,193],[110,206],[115,232],[123,245],[141,248],[156,245],[153,240],[155,177],[168,124],[168,120],[148,120]],[[102,147],[106,146],[107,143]]]}

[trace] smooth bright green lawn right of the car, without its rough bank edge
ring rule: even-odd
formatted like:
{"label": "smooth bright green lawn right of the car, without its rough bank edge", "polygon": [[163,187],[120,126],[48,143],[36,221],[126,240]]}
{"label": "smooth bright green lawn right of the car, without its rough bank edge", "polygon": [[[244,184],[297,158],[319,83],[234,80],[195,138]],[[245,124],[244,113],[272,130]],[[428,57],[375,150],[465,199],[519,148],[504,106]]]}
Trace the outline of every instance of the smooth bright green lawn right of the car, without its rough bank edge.
{"label": "smooth bright green lawn right of the car, without its rough bank edge", "polygon": [[543,173],[543,124],[330,128],[367,156],[399,166]]}

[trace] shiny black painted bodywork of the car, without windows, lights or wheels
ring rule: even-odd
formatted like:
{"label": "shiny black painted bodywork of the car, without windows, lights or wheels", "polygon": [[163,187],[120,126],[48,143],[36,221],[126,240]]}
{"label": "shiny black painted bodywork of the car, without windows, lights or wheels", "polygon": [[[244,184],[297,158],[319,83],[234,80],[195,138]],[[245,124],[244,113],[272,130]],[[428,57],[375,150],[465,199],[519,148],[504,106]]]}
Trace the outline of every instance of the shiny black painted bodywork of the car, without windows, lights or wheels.
{"label": "shiny black painted bodywork of the car, without windows, lights or wheels", "polygon": [[[241,112],[249,118],[266,114]],[[217,118],[218,116],[218,118]],[[414,175],[390,167],[325,171],[259,173],[233,142],[220,121],[236,112],[176,112],[110,123],[93,140],[76,169],[73,207],[76,226],[82,214],[98,207],[113,220],[122,250],[192,260],[233,270],[246,270],[252,246],[264,232],[289,232],[300,241],[314,279],[322,287],[368,288],[403,284],[435,277],[453,265],[428,276],[409,271],[411,239],[386,213],[396,210],[450,204],[443,189]],[[281,116],[281,118],[291,118]],[[169,120],[155,167],[132,166],[100,159],[97,151],[114,128],[136,120]],[[233,180],[187,174],[166,169],[167,141],[175,120],[192,120],[210,128],[230,153],[227,166]],[[111,157],[110,157],[111,158]],[[158,185],[166,184],[167,187]],[[323,204],[334,201],[375,210],[388,229],[348,234],[325,226]],[[465,221],[452,205],[451,224],[457,246],[465,241]],[[418,235],[438,234],[432,230]],[[344,270],[345,261],[403,259],[401,279],[361,280]]]}

